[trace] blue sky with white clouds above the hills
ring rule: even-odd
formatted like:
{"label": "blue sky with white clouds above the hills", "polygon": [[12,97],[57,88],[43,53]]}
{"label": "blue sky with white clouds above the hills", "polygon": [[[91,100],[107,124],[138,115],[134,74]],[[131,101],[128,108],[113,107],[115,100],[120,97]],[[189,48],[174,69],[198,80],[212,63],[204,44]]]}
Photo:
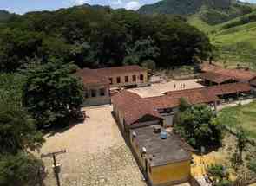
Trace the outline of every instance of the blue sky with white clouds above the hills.
{"label": "blue sky with white clouds above the hills", "polygon": [[[137,10],[144,4],[156,3],[158,1],[160,0],[0,0],[0,10],[24,14],[29,11],[68,8],[83,3],[108,5],[114,9]],[[256,0],[241,1],[256,3]]]}

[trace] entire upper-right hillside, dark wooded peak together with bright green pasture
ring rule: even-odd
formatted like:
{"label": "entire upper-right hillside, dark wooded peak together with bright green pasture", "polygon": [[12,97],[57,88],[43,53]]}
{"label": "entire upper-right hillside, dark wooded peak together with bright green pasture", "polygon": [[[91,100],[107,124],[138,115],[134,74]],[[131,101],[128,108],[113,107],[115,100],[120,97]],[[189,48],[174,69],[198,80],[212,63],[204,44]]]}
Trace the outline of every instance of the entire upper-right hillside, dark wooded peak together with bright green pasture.
{"label": "entire upper-right hillside, dark wooded peak together with bright green pasture", "polygon": [[255,4],[235,0],[162,0],[142,6],[141,14],[174,14],[205,32],[224,65],[256,69]]}

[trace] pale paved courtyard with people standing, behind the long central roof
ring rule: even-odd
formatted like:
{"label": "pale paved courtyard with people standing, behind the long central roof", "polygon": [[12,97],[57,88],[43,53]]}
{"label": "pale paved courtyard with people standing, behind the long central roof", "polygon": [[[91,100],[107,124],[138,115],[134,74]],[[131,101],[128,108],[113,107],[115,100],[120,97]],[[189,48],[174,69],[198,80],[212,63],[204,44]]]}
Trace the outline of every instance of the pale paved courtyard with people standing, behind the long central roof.
{"label": "pale paved courtyard with people standing, behind the long central roof", "polygon": [[[185,87],[181,87],[181,84],[185,84]],[[167,83],[156,83],[152,84],[150,87],[139,87],[129,89],[132,93],[139,94],[142,98],[161,96],[162,93],[168,91],[178,91],[190,88],[203,87],[197,80],[172,80]]]}

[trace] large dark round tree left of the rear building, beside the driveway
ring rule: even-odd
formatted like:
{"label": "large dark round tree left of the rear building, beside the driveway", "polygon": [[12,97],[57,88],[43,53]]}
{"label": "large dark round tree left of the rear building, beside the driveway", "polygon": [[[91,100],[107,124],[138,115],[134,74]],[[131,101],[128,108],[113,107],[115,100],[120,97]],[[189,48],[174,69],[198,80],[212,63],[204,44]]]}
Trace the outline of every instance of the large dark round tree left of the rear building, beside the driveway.
{"label": "large dark round tree left of the rear building, beside the driveway", "polygon": [[67,125],[72,110],[80,110],[83,101],[82,81],[75,77],[76,67],[52,59],[27,72],[23,86],[23,106],[45,125]]}

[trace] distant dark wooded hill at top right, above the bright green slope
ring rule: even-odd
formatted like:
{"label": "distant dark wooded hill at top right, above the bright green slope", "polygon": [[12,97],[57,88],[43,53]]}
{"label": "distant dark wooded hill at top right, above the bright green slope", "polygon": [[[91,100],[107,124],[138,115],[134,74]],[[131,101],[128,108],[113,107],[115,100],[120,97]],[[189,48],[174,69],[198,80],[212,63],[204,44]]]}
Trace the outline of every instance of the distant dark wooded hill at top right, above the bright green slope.
{"label": "distant dark wooded hill at top right, above the bright green slope", "polygon": [[142,6],[142,14],[174,14],[197,16],[200,22],[209,25],[229,21],[253,11],[253,5],[235,0],[162,0]]}

